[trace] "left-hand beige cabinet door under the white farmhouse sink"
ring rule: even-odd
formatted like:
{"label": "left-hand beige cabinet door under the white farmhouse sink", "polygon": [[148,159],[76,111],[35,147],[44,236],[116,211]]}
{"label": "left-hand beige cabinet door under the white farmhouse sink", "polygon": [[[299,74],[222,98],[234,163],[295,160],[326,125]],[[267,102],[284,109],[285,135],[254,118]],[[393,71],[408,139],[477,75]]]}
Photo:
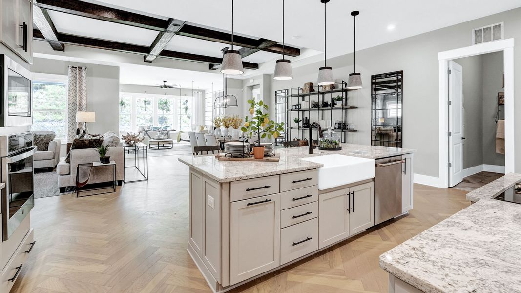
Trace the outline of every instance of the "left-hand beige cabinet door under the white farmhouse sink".
{"label": "left-hand beige cabinet door under the white farmhouse sink", "polygon": [[348,193],[341,189],[318,195],[318,248],[349,236]]}

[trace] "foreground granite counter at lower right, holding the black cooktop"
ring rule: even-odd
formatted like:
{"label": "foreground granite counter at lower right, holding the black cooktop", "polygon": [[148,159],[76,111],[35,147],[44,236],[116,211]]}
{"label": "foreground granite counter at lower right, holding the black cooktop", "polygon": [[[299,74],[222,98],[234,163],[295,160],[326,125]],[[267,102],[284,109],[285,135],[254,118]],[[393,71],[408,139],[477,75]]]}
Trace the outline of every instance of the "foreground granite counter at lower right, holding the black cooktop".
{"label": "foreground granite counter at lower right, holding the black cooktop", "polygon": [[520,292],[521,205],[493,199],[518,180],[468,193],[474,204],[382,254],[389,292]]}

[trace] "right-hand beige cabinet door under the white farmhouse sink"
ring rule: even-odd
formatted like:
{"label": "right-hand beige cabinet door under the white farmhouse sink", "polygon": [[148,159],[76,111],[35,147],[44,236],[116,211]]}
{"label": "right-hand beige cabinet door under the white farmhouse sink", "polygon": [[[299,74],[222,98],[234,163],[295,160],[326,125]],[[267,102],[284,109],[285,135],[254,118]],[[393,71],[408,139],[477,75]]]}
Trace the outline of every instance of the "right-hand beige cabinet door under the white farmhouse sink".
{"label": "right-hand beige cabinet door under the white farmhouse sink", "polygon": [[349,213],[349,235],[359,233],[375,223],[375,184],[368,182],[350,188],[351,212]]}

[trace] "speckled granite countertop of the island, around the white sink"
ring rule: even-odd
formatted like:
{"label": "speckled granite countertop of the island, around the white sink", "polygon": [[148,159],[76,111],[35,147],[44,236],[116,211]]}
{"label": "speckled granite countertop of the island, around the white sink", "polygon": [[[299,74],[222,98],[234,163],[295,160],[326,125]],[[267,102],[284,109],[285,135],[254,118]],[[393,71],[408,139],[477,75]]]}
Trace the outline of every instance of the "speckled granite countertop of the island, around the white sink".
{"label": "speckled granite countertop of the island, around the white sink", "polygon": [[226,162],[218,161],[213,155],[181,156],[179,161],[219,182],[229,182],[322,167],[322,164],[299,160],[302,157],[334,153],[366,158],[382,158],[412,153],[414,150],[342,143],[342,151],[320,151],[315,149],[314,152],[312,155],[308,154],[307,147],[277,149],[277,153],[280,153],[279,162]]}

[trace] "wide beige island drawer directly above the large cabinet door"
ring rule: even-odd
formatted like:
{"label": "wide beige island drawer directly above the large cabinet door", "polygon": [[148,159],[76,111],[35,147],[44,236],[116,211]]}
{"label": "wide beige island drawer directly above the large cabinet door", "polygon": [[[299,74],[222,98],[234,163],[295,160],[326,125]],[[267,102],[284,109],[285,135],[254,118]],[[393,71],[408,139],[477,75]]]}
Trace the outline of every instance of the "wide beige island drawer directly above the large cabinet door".
{"label": "wide beige island drawer directly above the large cabinet door", "polygon": [[232,181],[230,183],[230,201],[279,193],[279,184],[279,175]]}

